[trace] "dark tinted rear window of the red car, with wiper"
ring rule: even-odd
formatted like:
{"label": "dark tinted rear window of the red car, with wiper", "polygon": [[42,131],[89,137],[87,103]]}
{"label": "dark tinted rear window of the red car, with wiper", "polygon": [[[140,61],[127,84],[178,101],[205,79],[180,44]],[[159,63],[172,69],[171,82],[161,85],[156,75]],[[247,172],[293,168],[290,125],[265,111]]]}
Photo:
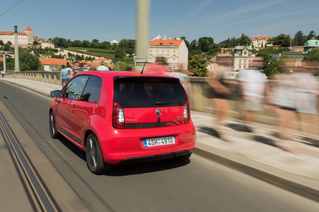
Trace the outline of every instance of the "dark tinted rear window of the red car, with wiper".
{"label": "dark tinted rear window of the red car, with wiper", "polygon": [[187,94],[178,78],[119,77],[114,100],[123,108],[170,107],[184,105]]}

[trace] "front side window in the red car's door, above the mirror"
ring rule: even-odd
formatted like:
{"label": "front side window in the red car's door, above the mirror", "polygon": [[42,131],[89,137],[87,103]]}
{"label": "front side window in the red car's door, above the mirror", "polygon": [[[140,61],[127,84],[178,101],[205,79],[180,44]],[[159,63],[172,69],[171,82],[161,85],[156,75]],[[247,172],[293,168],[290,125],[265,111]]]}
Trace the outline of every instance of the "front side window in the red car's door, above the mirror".
{"label": "front side window in the red car's door, above the mirror", "polygon": [[68,82],[66,88],[62,91],[61,97],[80,100],[82,91],[88,79],[89,76],[78,76],[72,78],[71,81]]}

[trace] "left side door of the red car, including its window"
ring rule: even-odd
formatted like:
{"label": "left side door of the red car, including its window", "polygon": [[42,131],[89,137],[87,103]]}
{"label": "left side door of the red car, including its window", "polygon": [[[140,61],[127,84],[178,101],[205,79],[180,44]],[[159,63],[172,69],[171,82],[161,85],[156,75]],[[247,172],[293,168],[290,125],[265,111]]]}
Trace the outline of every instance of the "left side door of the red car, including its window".
{"label": "left side door of the red car, including its window", "polygon": [[78,128],[77,110],[88,75],[72,78],[62,90],[58,100],[57,124],[60,131],[76,143],[81,143],[76,136]]}

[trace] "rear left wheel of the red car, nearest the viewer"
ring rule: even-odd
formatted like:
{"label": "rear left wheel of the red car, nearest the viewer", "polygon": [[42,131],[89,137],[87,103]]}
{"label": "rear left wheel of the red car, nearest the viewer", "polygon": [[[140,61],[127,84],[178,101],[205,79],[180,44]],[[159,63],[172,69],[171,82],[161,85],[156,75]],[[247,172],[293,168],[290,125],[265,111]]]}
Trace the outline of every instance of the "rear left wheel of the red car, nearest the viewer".
{"label": "rear left wheel of the red car, nearest the viewer", "polygon": [[86,155],[88,168],[92,173],[102,174],[109,170],[110,164],[104,162],[99,142],[93,133],[87,138]]}

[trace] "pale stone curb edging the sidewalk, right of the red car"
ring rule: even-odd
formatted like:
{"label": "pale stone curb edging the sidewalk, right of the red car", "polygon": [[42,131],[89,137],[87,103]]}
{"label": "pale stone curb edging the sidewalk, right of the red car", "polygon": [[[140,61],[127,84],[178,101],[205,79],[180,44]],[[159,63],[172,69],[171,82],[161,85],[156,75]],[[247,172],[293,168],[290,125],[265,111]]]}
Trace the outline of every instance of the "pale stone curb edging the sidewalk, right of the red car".
{"label": "pale stone curb edging the sidewalk, right of the red car", "polygon": [[193,152],[223,166],[319,202],[319,183],[313,179],[294,175],[202,143],[196,143]]}

